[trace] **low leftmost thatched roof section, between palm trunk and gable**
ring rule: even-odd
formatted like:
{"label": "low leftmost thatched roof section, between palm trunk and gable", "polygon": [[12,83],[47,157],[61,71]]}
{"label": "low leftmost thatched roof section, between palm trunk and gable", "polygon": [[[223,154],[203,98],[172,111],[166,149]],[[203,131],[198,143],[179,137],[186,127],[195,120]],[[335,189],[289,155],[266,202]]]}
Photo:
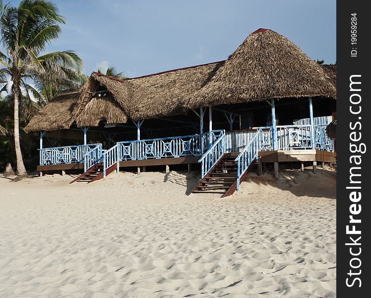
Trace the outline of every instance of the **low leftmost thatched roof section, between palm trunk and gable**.
{"label": "low leftmost thatched roof section, between palm trunk and gable", "polygon": [[65,92],[56,96],[32,117],[25,130],[31,132],[68,129],[74,121],[72,111],[79,95],[79,92]]}

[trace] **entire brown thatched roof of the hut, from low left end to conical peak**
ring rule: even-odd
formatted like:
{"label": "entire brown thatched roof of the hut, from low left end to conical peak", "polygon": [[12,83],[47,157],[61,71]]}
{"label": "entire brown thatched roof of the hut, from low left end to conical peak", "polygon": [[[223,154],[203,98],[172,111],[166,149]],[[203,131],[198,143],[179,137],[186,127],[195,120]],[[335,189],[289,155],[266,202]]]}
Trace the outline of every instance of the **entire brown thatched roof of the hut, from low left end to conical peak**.
{"label": "entire brown thatched roof of the hut, from low left end to conical peak", "polygon": [[78,93],[73,102],[56,98],[27,129],[66,129],[74,120],[79,127],[120,124],[270,98],[335,98],[335,83],[334,66],[320,66],[282,35],[259,29],[225,61],[124,80],[92,73],[77,103]]}

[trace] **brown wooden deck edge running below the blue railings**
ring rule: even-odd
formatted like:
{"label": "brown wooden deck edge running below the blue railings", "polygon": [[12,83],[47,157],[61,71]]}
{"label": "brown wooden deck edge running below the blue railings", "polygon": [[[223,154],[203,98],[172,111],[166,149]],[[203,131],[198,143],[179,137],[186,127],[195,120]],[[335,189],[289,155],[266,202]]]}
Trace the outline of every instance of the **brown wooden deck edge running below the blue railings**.
{"label": "brown wooden deck edge running below the blue railings", "polygon": [[[290,162],[290,161],[318,161],[318,162],[335,162],[336,152],[327,152],[320,150],[275,150],[275,151],[260,151],[260,162]],[[142,160],[122,160],[120,167],[140,167],[154,165],[173,165],[173,164],[188,164],[197,163],[199,156],[188,157],[170,157],[170,158],[154,158]],[[37,170],[40,172],[57,171],[57,170],[83,170],[83,163],[70,164],[50,164],[38,165]]]}

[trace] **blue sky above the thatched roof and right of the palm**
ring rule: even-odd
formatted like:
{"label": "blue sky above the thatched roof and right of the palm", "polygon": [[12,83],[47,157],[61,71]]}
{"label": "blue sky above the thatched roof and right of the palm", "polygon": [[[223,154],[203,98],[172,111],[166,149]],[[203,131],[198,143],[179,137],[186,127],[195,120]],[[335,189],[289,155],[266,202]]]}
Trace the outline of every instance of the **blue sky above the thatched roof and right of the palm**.
{"label": "blue sky above the thatched roof and right of the palm", "polygon": [[76,51],[86,74],[112,65],[133,77],[224,60],[258,28],[284,35],[313,60],[336,62],[335,0],[54,2],[67,23],[48,51]]}

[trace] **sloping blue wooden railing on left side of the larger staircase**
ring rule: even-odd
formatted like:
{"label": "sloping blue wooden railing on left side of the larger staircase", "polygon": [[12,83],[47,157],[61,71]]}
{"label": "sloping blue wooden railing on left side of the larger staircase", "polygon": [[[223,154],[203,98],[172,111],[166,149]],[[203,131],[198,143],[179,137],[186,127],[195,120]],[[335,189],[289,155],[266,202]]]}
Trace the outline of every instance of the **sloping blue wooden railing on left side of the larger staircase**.
{"label": "sloping blue wooden railing on left side of the larger staircase", "polygon": [[201,179],[207,174],[208,171],[210,171],[210,169],[226,152],[225,136],[225,131],[221,131],[214,144],[198,160],[198,162],[201,162]]}

